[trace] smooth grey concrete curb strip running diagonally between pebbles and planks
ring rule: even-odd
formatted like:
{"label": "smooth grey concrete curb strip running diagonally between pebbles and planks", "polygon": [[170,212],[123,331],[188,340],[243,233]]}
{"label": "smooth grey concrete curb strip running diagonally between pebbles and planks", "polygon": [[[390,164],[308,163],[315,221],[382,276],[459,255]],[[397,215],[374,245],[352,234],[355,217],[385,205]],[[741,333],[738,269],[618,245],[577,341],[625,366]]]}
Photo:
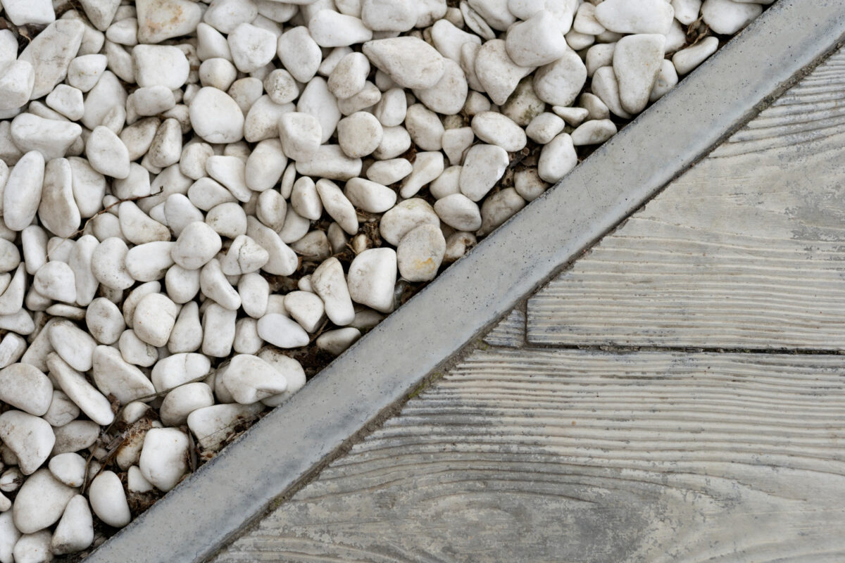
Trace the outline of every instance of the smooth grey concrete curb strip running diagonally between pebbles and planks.
{"label": "smooth grey concrete curb strip running diagonally between pebbles and planks", "polygon": [[747,122],[845,34],[842,0],[780,0],[88,563],[199,561],[482,329]]}

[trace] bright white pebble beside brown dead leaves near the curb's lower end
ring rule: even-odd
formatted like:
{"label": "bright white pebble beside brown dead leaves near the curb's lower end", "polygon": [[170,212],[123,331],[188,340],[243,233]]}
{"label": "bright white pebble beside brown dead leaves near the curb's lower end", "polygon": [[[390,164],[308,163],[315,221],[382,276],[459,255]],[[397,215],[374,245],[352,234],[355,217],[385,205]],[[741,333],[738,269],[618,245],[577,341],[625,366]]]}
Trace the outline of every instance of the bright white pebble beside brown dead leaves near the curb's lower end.
{"label": "bright white pebble beside brown dead leaves near the curb's lower end", "polygon": [[171,490],[188,472],[188,436],[176,428],[147,431],[139,468],[156,489]]}

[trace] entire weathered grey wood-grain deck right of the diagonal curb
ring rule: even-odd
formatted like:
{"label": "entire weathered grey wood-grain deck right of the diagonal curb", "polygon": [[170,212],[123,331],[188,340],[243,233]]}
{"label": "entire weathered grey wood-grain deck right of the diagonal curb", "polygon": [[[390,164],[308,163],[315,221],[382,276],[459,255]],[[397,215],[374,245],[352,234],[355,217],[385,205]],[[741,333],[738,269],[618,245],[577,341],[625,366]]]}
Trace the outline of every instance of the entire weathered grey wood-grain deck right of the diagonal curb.
{"label": "entire weathered grey wood-grain deck right of the diagonal curb", "polygon": [[845,560],[842,102],[837,53],[213,561]]}

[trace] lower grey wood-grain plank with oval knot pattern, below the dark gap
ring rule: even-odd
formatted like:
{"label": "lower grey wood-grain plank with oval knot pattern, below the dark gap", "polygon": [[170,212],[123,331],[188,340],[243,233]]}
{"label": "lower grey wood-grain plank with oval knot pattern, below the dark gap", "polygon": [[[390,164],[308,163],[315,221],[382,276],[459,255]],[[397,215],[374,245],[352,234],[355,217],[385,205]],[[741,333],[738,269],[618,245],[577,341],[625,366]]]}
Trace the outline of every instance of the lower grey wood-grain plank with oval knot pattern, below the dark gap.
{"label": "lower grey wood-grain plank with oval knot pattern, below the dark gap", "polygon": [[842,561],[843,375],[478,350],[214,561]]}

